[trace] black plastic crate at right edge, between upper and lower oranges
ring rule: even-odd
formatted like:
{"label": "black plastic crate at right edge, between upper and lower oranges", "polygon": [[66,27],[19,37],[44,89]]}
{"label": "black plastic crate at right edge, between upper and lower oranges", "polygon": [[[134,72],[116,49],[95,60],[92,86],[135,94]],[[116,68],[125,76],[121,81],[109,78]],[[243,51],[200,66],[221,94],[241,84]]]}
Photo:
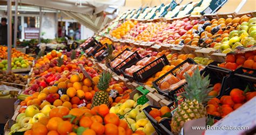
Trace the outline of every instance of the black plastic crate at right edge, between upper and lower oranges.
{"label": "black plastic crate at right edge, between upper and lower oranges", "polygon": [[[251,73],[249,73],[251,72]],[[255,89],[256,84],[256,69],[240,67],[230,73],[221,85],[221,96],[230,95],[230,91],[234,88],[245,90],[247,86],[250,89]],[[218,98],[220,99],[219,96]]]}

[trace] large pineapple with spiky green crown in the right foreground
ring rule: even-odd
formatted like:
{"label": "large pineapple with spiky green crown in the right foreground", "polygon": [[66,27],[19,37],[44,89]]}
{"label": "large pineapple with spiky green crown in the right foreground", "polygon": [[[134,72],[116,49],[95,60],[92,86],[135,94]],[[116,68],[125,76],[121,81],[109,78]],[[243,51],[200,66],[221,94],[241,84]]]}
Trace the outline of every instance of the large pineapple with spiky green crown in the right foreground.
{"label": "large pineapple with spiky green crown in the right foreground", "polygon": [[181,103],[174,112],[171,122],[171,129],[174,134],[178,134],[184,123],[188,120],[203,118],[207,116],[206,108],[203,105],[211,98],[208,93],[212,88],[210,86],[209,76],[200,76],[197,68],[191,77],[186,73],[187,85],[184,94],[185,101]]}

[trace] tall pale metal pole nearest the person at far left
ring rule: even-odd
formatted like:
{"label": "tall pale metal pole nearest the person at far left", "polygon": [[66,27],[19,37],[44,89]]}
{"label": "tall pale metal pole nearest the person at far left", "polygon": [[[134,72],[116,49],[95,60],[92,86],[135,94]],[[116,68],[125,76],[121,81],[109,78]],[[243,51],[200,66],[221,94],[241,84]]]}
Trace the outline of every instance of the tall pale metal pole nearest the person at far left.
{"label": "tall pale metal pole nearest the person at far left", "polygon": [[8,16],[8,27],[7,27],[7,44],[8,44],[8,58],[7,58],[7,62],[8,62],[8,67],[7,67],[7,72],[10,73],[11,72],[11,1],[7,1],[7,16]]}

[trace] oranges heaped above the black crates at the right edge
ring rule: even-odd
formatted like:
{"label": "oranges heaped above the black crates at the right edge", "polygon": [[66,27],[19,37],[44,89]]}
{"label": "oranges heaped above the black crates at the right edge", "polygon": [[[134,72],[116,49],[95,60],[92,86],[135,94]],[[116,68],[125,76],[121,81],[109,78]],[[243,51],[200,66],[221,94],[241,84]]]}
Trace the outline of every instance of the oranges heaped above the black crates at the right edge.
{"label": "oranges heaped above the black crates at the right edge", "polygon": [[239,67],[256,69],[256,51],[250,51],[239,54],[227,54],[226,62],[221,63],[219,67],[235,70]]}

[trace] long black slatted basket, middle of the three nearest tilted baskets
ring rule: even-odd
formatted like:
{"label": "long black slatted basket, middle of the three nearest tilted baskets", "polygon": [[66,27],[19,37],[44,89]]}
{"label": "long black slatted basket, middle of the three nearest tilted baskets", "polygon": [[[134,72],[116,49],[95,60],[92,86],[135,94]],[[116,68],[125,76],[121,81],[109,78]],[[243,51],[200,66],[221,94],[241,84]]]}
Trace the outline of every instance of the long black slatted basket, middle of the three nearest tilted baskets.
{"label": "long black slatted basket, middle of the three nearest tilted baskets", "polygon": [[145,79],[147,79],[148,77],[157,73],[159,70],[161,70],[166,65],[169,65],[169,61],[166,58],[166,56],[163,55],[163,56],[160,56],[159,58],[157,58],[156,60],[150,62],[143,68],[140,68],[139,70],[134,72],[133,76],[125,74],[123,70],[122,70],[122,72],[123,72],[124,77],[127,79],[142,82]]}

